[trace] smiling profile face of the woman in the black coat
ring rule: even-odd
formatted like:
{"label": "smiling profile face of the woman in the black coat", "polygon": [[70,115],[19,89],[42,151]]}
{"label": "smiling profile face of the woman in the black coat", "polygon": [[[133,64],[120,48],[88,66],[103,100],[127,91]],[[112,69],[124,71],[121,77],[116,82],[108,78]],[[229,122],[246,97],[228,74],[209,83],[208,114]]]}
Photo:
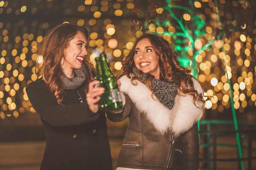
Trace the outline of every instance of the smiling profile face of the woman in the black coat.
{"label": "smiling profile face of the woman in the black coat", "polygon": [[73,69],[82,67],[83,59],[88,54],[87,39],[82,32],[78,32],[64,49],[64,57],[61,61],[61,67],[64,74],[72,78],[74,77]]}

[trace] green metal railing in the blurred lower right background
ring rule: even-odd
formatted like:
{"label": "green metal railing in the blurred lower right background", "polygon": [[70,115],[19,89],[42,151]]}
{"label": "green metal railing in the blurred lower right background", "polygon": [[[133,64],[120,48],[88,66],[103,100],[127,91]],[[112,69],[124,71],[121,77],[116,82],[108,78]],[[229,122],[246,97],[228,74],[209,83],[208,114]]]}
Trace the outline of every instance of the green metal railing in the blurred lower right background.
{"label": "green metal railing in the blurred lower right background", "polygon": [[[241,130],[234,129],[233,121],[221,120],[201,120],[200,128],[200,148],[204,150],[204,156],[200,158],[200,163],[204,164],[206,170],[219,170],[218,163],[231,162],[237,163],[234,170],[253,170],[253,161],[256,161],[256,125],[246,122],[239,122]],[[204,127],[202,127],[204,126]],[[223,126],[223,127],[222,127]],[[220,127],[222,128],[220,130]],[[228,141],[234,139],[236,142],[228,144],[220,143],[217,139],[228,137]],[[240,144],[237,143],[239,137]],[[246,142],[245,142],[246,141]],[[254,145],[253,145],[254,144]],[[235,155],[218,155],[218,148],[235,148]],[[242,153],[247,153],[243,156]],[[235,157],[234,157],[235,156]],[[237,157],[236,157],[237,156]],[[244,162],[247,162],[244,164]],[[231,169],[229,169],[231,170]]]}

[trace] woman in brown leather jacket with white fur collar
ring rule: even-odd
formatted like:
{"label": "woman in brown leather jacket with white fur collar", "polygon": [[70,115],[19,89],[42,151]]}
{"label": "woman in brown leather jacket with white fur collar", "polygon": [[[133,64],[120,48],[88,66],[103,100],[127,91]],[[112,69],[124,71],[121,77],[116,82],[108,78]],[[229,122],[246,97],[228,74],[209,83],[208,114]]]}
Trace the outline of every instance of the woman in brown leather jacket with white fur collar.
{"label": "woman in brown leather jacket with white fur collar", "polygon": [[164,38],[144,34],[123,62],[122,113],[129,117],[117,170],[198,170],[197,121],[203,114],[203,90],[177,61]]}

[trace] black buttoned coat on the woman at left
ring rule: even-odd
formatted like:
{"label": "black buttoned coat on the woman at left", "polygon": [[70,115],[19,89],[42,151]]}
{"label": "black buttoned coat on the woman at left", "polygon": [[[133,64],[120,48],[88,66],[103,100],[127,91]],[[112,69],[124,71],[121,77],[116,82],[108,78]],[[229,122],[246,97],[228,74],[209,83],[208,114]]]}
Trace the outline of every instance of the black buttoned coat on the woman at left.
{"label": "black buttoned coat on the woman at left", "polygon": [[90,113],[84,87],[65,90],[64,106],[42,78],[26,91],[47,138],[40,170],[112,170],[106,116]]}

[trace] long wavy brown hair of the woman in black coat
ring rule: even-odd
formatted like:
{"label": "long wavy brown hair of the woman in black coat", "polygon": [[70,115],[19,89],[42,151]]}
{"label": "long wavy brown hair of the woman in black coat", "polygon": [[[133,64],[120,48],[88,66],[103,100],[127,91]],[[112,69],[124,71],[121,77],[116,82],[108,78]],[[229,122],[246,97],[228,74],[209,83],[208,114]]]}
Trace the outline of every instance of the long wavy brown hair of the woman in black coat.
{"label": "long wavy brown hair of the woman in black coat", "polygon": [[[42,63],[37,63],[39,74],[47,84],[49,92],[56,98],[58,104],[61,104],[64,98],[63,89],[63,70],[61,60],[63,52],[69,46],[70,41],[78,32],[82,32],[88,39],[88,31],[82,26],[72,24],[59,24],[55,26],[43,39],[38,50],[38,56],[43,57]],[[85,61],[87,66],[88,78],[85,83],[85,91],[88,91],[88,84],[95,76],[94,66]]]}

